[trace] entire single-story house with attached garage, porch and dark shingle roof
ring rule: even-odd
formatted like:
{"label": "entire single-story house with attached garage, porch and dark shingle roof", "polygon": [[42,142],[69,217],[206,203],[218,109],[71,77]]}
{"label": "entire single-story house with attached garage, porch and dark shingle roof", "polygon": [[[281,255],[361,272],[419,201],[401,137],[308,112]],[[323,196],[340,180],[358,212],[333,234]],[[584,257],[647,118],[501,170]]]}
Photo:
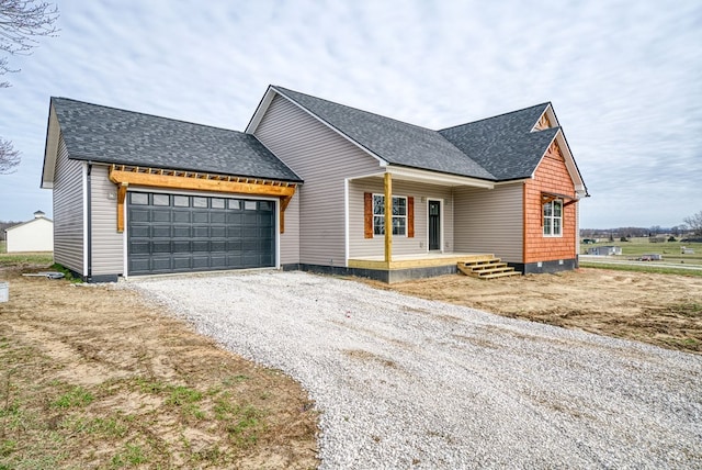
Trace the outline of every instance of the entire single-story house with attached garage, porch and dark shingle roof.
{"label": "entire single-story house with attached garage, porch and dark shingle roof", "polygon": [[52,98],[42,187],[56,262],[92,281],[573,269],[587,195],[551,103],[432,131],[275,86],[245,132]]}

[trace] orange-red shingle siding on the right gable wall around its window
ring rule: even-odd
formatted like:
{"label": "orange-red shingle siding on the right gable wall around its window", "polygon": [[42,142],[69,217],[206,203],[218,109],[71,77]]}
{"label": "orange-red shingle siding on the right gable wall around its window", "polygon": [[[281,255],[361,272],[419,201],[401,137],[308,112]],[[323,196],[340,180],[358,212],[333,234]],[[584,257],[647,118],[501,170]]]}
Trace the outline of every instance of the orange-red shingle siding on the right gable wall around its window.
{"label": "orange-red shingle siding on the right gable wall around its window", "polygon": [[[563,154],[554,142],[524,188],[524,262],[573,259],[576,257],[576,208],[563,208],[563,236],[543,235],[541,193],[555,192],[575,198],[575,186]],[[569,202],[565,200],[564,203]]]}

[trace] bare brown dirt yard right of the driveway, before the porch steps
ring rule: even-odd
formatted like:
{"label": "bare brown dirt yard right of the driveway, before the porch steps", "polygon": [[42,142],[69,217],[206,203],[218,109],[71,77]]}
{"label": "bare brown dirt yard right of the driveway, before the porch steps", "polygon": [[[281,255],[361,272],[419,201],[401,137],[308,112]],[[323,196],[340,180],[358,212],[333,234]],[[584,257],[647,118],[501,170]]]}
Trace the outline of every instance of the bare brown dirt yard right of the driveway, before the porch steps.
{"label": "bare brown dirt yard right of the driveway, before the porch steps", "polygon": [[605,269],[492,281],[443,276],[388,288],[566,328],[702,352],[702,277]]}

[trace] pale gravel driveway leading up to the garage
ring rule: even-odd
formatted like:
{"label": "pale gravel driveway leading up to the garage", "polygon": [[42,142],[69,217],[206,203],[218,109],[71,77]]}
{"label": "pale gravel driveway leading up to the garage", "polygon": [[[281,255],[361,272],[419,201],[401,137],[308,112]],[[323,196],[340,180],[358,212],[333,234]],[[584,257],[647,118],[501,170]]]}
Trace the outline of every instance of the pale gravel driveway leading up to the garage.
{"label": "pale gravel driveway leading up to the garage", "polygon": [[303,272],[128,286],[298,380],[322,469],[702,467],[701,356]]}

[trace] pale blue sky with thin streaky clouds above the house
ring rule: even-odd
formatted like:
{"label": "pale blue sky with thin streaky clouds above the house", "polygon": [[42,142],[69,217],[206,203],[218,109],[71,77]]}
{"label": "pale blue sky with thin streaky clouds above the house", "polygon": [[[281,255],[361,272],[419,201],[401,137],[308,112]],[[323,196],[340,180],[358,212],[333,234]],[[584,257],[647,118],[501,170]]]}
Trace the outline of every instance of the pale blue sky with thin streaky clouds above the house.
{"label": "pale blue sky with thin streaky clouds above the house", "polygon": [[439,130],[551,101],[580,226],[702,211],[699,0],[64,0],[1,77],[0,221],[52,216],[49,97],[244,131],[269,85]]}

